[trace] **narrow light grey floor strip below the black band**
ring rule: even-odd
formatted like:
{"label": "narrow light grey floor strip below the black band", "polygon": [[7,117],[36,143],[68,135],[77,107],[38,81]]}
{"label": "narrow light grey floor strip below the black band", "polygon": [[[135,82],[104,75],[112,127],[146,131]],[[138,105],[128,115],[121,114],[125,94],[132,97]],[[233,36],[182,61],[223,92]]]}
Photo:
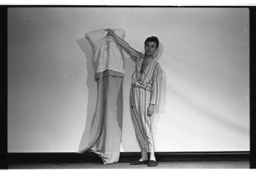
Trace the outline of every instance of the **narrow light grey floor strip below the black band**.
{"label": "narrow light grey floor strip below the black band", "polygon": [[102,162],[57,163],[57,164],[9,164],[9,169],[248,169],[250,162],[243,161],[194,161],[159,162],[156,167],[131,166],[129,162],[104,165]]}

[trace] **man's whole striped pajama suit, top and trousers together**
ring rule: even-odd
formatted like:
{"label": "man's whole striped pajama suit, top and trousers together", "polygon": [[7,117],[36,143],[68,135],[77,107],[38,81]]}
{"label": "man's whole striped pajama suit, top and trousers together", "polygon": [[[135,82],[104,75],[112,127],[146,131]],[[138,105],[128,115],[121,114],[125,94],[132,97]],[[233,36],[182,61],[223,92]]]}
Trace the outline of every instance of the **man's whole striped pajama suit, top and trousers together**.
{"label": "man's whole striped pajama suit, top and trousers together", "polygon": [[152,119],[147,115],[147,110],[150,104],[157,105],[159,103],[161,66],[154,59],[141,74],[143,54],[132,49],[122,38],[118,38],[117,43],[136,61],[130,91],[130,111],[136,139],[141,152],[154,152]]}

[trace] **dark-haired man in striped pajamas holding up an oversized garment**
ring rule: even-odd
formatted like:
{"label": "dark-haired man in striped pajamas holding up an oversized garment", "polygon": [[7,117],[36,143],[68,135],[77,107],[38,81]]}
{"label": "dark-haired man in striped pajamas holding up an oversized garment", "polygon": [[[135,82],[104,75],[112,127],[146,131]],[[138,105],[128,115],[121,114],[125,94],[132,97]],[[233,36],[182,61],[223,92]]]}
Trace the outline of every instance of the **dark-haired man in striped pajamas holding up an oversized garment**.
{"label": "dark-haired man in striped pajamas holding up an oversized garment", "polygon": [[[131,80],[130,109],[132,124],[141,150],[141,159],[131,162],[131,165],[148,164],[150,167],[157,166],[151,117],[154,114],[154,105],[159,102],[162,74],[161,66],[154,59],[159,40],[156,36],[148,37],[144,44],[145,53],[141,54],[132,49],[111,29],[106,29],[106,31],[136,62]],[[149,162],[147,152],[150,153]]]}

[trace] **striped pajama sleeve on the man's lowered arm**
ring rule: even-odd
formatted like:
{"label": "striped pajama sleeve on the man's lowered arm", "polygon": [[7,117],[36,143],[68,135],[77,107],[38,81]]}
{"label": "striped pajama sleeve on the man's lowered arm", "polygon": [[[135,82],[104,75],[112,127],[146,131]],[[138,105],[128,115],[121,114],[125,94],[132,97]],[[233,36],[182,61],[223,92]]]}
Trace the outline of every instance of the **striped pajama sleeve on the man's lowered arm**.
{"label": "striped pajama sleeve on the man's lowered arm", "polygon": [[156,68],[154,69],[154,72],[153,72],[152,96],[150,99],[150,104],[157,105],[159,102],[161,76],[162,76],[161,66],[159,65],[159,63],[157,63]]}

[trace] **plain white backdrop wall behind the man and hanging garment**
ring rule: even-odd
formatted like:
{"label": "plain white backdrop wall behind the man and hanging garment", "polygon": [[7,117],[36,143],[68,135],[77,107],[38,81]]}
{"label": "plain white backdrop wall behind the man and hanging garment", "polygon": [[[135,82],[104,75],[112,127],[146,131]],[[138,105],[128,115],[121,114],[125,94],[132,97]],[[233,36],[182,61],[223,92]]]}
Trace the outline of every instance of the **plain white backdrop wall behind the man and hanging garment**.
{"label": "plain white backdrop wall behind the man and hanging garment", "polygon": [[[120,28],[143,52],[161,42],[157,152],[248,151],[248,8],[9,8],[8,152],[76,152],[97,97],[84,33]],[[139,152],[125,58],[122,152]]]}

